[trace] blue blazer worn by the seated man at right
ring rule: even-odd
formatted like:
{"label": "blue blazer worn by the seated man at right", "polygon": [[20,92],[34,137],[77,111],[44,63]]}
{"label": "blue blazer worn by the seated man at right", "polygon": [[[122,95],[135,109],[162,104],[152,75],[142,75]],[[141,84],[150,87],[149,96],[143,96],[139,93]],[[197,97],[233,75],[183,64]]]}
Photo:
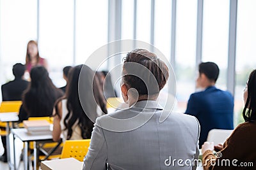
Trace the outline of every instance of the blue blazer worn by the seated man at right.
{"label": "blue blazer worn by the seated man at right", "polygon": [[200,123],[200,148],[211,129],[234,129],[234,98],[230,92],[214,86],[191,94],[185,113],[195,116]]}

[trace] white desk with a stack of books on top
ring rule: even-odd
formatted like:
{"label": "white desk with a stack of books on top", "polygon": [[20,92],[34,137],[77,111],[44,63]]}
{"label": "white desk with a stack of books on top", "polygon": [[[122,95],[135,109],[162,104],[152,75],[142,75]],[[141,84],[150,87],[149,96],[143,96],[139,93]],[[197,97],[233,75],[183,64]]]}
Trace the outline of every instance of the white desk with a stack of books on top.
{"label": "white desk with a stack of books on top", "polygon": [[28,149],[29,149],[29,142],[34,142],[34,167],[38,169],[39,164],[39,143],[42,142],[52,142],[52,134],[29,134],[27,129],[20,128],[20,129],[12,129],[12,134],[14,134],[17,138],[24,142],[24,169],[28,169]]}

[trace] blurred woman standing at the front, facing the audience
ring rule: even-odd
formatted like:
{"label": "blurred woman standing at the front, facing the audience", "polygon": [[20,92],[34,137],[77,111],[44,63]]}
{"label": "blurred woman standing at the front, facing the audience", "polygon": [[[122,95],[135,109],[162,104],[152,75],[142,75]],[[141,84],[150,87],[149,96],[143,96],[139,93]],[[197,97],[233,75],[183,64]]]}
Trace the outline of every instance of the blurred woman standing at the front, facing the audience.
{"label": "blurred woman standing at the front, facing the audience", "polygon": [[29,41],[27,46],[27,53],[26,53],[26,70],[28,72],[31,71],[32,67],[35,66],[44,66],[48,69],[47,60],[40,57],[38,52],[38,45],[36,41]]}

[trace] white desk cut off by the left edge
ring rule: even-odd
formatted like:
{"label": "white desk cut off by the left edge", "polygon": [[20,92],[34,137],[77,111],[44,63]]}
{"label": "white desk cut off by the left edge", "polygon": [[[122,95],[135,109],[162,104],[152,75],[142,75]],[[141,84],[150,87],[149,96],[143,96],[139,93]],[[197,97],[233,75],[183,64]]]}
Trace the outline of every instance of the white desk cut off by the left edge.
{"label": "white desk cut off by the left edge", "polygon": [[0,113],[0,121],[1,122],[6,122],[6,152],[7,152],[7,162],[10,167],[10,169],[16,169],[16,160],[15,160],[15,151],[14,151],[14,136],[13,136],[13,164],[10,160],[10,122],[12,122],[12,127],[13,127],[13,122],[17,122],[19,120],[19,117],[17,115],[17,112],[7,112],[7,113]]}

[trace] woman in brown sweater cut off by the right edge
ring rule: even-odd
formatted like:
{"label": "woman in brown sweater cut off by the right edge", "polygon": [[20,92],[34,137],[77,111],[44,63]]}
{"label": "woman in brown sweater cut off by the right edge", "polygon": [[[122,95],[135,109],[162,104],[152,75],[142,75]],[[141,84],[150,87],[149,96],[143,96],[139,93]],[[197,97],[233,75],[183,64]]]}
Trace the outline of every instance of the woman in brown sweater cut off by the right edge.
{"label": "woman in brown sweater cut off by the right edge", "polygon": [[[202,146],[204,170],[255,169],[256,165],[256,69],[244,89],[245,122],[236,127],[224,145],[205,142]],[[213,150],[221,150],[216,156]],[[228,163],[229,162],[229,163]]]}

